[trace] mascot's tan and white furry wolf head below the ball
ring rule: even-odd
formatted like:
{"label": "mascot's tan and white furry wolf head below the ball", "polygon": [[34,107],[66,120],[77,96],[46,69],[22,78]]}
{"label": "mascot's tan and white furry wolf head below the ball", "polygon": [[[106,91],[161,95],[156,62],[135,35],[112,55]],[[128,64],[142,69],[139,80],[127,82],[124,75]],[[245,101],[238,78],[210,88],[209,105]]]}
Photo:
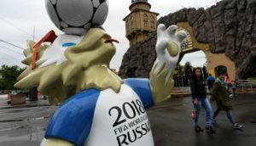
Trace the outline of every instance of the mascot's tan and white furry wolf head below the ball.
{"label": "mascot's tan and white furry wolf head below the ball", "polygon": [[[102,29],[90,29],[79,44],[59,51],[47,44],[38,49],[37,67],[32,70],[32,52],[34,42],[27,42],[24,51],[28,65],[18,77],[15,87],[38,87],[38,91],[49,96],[51,104],[63,102],[66,98],[81,90],[95,87],[103,90],[112,88],[119,92],[122,80],[108,69],[115,53],[112,42],[106,42],[111,36]],[[64,49],[64,48],[63,48]]]}

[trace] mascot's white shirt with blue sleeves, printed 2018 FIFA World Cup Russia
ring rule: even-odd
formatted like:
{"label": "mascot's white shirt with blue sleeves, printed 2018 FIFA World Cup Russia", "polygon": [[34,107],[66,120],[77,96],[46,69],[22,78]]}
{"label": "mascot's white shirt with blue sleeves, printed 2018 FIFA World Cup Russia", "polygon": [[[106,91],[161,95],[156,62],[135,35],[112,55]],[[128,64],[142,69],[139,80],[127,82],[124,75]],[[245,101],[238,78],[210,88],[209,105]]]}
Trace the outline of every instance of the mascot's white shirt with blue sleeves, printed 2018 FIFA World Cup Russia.
{"label": "mascot's white shirt with blue sleeves, printed 2018 FIFA World Cup Russia", "polygon": [[85,90],[55,111],[45,138],[78,146],[154,146],[145,110],[153,105],[148,79],[125,80],[119,93]]}

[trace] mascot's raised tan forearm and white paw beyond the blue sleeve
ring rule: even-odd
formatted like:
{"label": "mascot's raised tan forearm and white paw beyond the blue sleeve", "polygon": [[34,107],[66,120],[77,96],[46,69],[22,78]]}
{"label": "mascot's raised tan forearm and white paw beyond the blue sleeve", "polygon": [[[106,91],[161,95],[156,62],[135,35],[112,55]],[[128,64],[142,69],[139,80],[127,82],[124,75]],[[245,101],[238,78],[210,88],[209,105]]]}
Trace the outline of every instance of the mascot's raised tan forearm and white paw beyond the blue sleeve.
{"label": "mascot's raised tan forearm and white paw beyond the blue sleeve", "polygon": [[172,72],[179,59],[180,44],[186,36],[185,31],[177,31],[177,25],[171,25],[167,29],[163,24],[158,25],[155,48],[157,59],[150,72],[150,87],[155,103],[170,98],[174,87]]}

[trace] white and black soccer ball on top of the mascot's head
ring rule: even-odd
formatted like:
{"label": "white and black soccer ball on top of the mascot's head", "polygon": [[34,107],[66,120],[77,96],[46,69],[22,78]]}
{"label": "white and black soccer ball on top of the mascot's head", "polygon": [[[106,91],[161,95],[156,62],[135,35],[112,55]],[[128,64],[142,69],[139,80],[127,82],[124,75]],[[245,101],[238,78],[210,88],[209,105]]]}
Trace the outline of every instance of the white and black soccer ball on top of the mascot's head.
{"label": "white and black soccer ball on top of the mascot's head", "polygon": [[108,0],[45,0],[45,3],[50,19],[68,34],[103,25],[108,16]]}

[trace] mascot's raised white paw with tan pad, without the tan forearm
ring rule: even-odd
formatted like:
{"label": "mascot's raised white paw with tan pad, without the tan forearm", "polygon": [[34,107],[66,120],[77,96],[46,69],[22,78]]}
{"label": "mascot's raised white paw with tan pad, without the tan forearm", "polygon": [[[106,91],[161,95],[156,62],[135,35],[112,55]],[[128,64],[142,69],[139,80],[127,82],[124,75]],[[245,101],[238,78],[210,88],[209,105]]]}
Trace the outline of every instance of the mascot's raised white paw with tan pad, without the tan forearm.
{"label": "mascot's raised white paw with tan pad, without the tan forearm", "polygon": [[154,64],[153,74],[166,74],[165,82],[169,81],[172,70],[175,69],[179,54],[180,44],[187,34],[185,31],[177,31],[177,25],[171,25],[166,29],[163,24],[157,27],[156,53],[157,59]]}

